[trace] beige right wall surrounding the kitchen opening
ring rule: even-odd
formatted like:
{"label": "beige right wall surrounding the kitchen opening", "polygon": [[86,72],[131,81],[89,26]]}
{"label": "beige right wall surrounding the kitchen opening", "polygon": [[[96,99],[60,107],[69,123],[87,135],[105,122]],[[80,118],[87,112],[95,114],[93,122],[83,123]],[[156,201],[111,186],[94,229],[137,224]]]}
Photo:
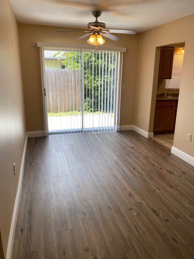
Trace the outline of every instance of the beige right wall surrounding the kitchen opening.
{"label": "beige right wall surrounding the kitchen opening", "polygon": [[[185,42],[181,87],[173,146],[194,157],[194,14],[140,33],[134,124],[153,132],[155,94],[159,64],[158,46]],[[156,56],[155,56],[156,55]],[[155,73],[154,73],[155,72]],[[139,119],[139,114],[141,118]]]}

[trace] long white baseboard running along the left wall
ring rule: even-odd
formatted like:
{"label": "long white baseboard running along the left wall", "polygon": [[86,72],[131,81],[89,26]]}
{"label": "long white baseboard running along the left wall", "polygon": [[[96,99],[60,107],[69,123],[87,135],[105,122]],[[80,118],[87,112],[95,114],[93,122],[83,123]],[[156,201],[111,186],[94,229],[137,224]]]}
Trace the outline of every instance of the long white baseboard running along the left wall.
{"label": "long white baseboard running along the left wall", "polygon": [[12,258],[12,252],[13,252],[13,242],[14,242],[14,236],[16,231],[16,221],[18,216],[18,209],[19,209],[19,202],[20,202],[20,196],[21,196],[21,186],[23,181],[23,173],[24,173],[24,163],[25,163],[25,156],[26,156],[26,148],[27,148],[27,140],[28,140],[28,134],[26,133],[26,140],[24,144],[24,151],[23,156],[21,160],[21,168],[20,168],[20,175],[19,175],[19,183],[18,183],[18,190],[16,194],[16,200],[15,205],[13,209],[13,216],[12,216],[12,222],[11,222],[11,228],[10,228],[10,236],[7,246],[7,256],[6,259]]}

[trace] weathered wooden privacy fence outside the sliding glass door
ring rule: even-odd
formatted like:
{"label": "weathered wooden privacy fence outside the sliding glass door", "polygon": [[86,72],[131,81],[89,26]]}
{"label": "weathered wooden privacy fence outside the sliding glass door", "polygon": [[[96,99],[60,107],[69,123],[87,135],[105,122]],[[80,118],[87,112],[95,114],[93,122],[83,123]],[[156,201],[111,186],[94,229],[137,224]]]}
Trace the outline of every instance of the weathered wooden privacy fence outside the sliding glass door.
{"label": "weathered wooden privacy fence outside the sliding glass door", "polygon": [[48,112],[80,111],[80,70],[46,68],[45,77]]}

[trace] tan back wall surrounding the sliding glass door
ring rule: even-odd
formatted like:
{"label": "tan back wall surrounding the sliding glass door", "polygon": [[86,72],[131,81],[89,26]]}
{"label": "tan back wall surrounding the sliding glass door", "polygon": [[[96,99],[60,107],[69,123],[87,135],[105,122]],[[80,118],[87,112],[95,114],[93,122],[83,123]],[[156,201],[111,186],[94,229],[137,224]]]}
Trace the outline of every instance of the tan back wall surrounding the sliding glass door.
{"label": "tan back wall surrounding the sliding glass door", "polygon": [[[56,42],[87,44],[87,38],[76,40],[82,32],[62,33],[62,27],[19,24],[20,50],[22,74],[24,84],[24,100],[26,111],[27,131],[44,130],[40,53],[37,42]],[[64,28],[65,29],[65,28]],[[71,28],[66,28],[71,30]],[[75,28],[73,28],[75,30]],[[121,40],[112,41],[105,38],[104,46],[126,47],[124,53],[123,84],[121,91],[121,118],[120,125],[132,125],[134,116],[136,73],[138,57],[139,34],[121,35]],[[98,47],[100,49],[100,47]]]}

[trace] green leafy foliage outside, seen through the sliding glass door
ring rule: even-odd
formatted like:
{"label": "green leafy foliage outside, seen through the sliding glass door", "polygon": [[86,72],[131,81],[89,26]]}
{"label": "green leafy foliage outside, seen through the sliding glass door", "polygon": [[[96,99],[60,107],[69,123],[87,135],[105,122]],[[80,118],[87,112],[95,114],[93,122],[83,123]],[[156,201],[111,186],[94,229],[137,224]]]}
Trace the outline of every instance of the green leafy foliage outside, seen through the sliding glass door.
{"label": "green leafy foliage outside, seen through the sliding glass door", "polygon": [[[58,58],[64,69],[82,68],[81,52],[58,51],[53,57]],[[113,112],[115,64],[115,53],[83,52],[84,111]]]}

